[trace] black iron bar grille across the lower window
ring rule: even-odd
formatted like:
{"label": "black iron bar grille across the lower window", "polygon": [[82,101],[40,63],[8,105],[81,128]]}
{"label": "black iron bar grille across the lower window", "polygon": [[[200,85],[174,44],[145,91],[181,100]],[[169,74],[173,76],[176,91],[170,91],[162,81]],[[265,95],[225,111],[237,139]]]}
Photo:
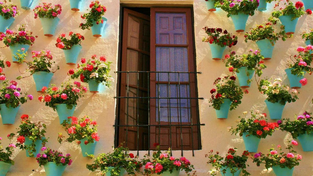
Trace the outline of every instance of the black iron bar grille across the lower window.
{"label": "black iron bar grille across the lower window", "polygon": [[[170,148],[171,148],[171,155],[172,155],[172,127],[180,127],[180,146],[181,146],[181,156],[183,156],[183,137],[182,137],[182,127],[190,127],[191,128],[191,143],[192,143],[192,156],[194,156],[194,142],[193,142],[193,138],[194,138],[194,134],[193,134],[193,128],[196,127],[198,129],[198,148],[200,148],[199,146],[201,146],[201,142],[200,141],[200,126],[204,126],[205,124],[203,123],[199,123],[199,118],[198,118],[198,102],[197,102],[197,122],[194,123],[192,122],[192,113],[190,113],[190,124],[182,124],[182,106],[181,106],[181,100],[187,100],[190,102],[190,111],[191,111],[191,100],[203,100],[203,98],[199,98],[197,97],[198,95],[196,94],[196,97],[191,97],[191,91],[189,89],[189,96],[187,97],[181,97],[181,88],[180,88],[180,85],[182,84],[182,81],[181,81],[181,75],[184,74],[186,76],[186,74],[188,74],[188,85],[190,86],[190,75],[193,74],[195,75],[195,78],[197,77],[197,74],[201,74],[201,72],[179,72],[179,71],[115,71],[114,73],[117,73],[118,76],[120,77],[120,74],[126,74],[126,91],[127,91],[127,96],[115,96],[114,98],[120,100],[120,99],[125,99],[126,100],[126,107],[129,106],[129,100],[130,99],[137,99],[138,101],[136,101],[137,103],[137,111],[136,111],[136,116],[137,116],[137,122],[136,122],[136,125],[129,125],[129,108],[127,108],[126,110],[126,125],[120,125],[119,122],[118,122],[118,116],[116,117],[117,120],[115,122],[115,125],[113,125],[113,127],[115,127],[115,132],[118,131],[118,128],[119,127],[126,127],[126,147],[127,147],[127,137],[128,137],[128,127],[137,127],[137,145],[136,145],[136,148],[137,148],[137,156],[139,156],[139,127],[147,127],[148,128],[148,144],[149,144],[149,147],[148,147],[148,155],[150,155],[150,128],[151,127],[156,127],[158,128],[158,143],[160,143],[160,128],[161,127],[169,127],[170,129],[170,132],[169,132],[169,136],[170,136]],[[136,89],[136,95],[137,96],[129,96],[129,74],[132,73],[132,74],[136,74],[137,76],[137,89]],[[148,85],[147,85],[147,91],[148,91],[148,96],[138,96],[139,95],[139,75],[140,74],[147,74],[147,81],[148,81]],[[150,97],[150,79],[151,79],[151,74],[156,74],[156,90],[157,91],[157,96],[156,97]],[[160,96],[160,74],[166,74],[167,75],[167,84],[164,83],[164,81],[162,82],[162,85],[166,85],[167,86],[167,97],[164,97],[164,96]],[[171,97],[171,89],[170,89],[170,77],[172,75],[175,75],[177,76],[178,78],[178,82],[176,83],[178,85],[178,97]],[[197,79],[195,79],[197,80]],[[186,84],[186,83],[185,83]],[[158,124],[150,124],[150,101],[151,99],[155,99],[157,101],[157,112],[156,112],[156,115],[157,115],[157,118],[158,118]],[[168,101],[168,104],[169,104],[169,108],[168,109],[168,113],[169,113],[169,117],[168,117],[168,120],[169,120],[169,124],[160,124],[160,108],[161,108],[161,105],[160,105],[160,100],[162,99],[167,99],[167,100],[171,100],[171,99],[177,99],[178,103],[177,103],[177,108],[179,107],[179,122],[180,124],[172,124],[172,120],[171,120],[171,109],[172,109],[172,106],[171,106],[171,101]],[[139,103],[139,100],[146,100],[147,103],[148,103],[148,124],[139,124],[139,106],[138,106],[138,103]],[[188,108],[188,107],[187,107]],[[152,117],[154,118],[154,117]],[[116,143],[116,138],[117,136],[115,136],[115,143]],[[198,150],[198,149],[196,149]]]}

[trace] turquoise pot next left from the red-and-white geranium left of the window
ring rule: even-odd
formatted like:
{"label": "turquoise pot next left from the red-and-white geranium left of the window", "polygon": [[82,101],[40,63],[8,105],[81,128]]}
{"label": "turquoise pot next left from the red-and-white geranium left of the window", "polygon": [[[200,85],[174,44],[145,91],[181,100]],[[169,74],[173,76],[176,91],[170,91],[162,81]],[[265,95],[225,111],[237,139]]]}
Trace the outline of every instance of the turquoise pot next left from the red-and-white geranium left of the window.
{"label": "turquoise pot next left from the red-and-white geranium left of the window", "polygon": [[36,71],[33,74],[37,92],[42,92],[41,89],[44,86],[49,87],[52,76],[53,73],[48,71]]}

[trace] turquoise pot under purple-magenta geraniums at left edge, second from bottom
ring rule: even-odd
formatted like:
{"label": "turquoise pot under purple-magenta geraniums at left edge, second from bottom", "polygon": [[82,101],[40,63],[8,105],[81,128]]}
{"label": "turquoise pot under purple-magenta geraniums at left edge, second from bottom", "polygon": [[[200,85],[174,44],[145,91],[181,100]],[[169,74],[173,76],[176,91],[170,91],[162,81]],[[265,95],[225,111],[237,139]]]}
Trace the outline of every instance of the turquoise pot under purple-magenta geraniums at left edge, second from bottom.
{"label": "turquoise pot under purple-magenta geraniums at left edge, second from bottom", "polygon": [[5,104],[0,104],[0,114],[2,118],[2,124],[3,125],[12,125],[14,124],[15,121],[15,116],[18,113],[19,108],[21,105],[18,105],[18,107],[13,108],[13,107],[7,107]]}

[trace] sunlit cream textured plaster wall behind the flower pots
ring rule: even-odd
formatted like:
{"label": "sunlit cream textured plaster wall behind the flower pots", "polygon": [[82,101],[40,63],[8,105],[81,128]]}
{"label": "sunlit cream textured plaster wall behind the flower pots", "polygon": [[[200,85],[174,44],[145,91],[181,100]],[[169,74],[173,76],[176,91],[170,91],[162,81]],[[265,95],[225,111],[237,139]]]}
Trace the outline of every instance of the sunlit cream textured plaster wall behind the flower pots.
{"label": "sunlit cream textured plaster wall behind the flower pots", "polygon": [[[107,60],[112,61],[112,72],[111,75],[116,80],[116,75],[113,71],[117,70],[118,61],[118,34],[119,34],[119,15],[120,15],[120,3],[145,3],[145,4],[191,4],[194,10],[194,33],[195,33],[195,45],[196,45],[196,60],[197,60],[197,71],[201,71],[202,74],[198,75],[198,91],[199,97],[203,97],[204,100],[199,100],[199,111],[200,111],[200,122],[205,123],[205,126],[201,126],[201,142],[202,150],[195,151],[195,157],[192,157],[191,151],[184,151],[184,156],[190,159],[191,163],[194,164],[197,175],[209,175],[208,171],[211,166],[206,164],[204,154],[208,153],[209,150],[219,151],[225,154],[228,148],[236,147],[239,153],[244,151],[244,143],[241,137],[232,136],[227,131],[227,127],[235,126],[235,120],[242,114],[243,111],[249,110],[260,110],[268,113],[266,105],[264,103],[265,96],[260,94],[257,90],[255,81],[252,82],[252,86],[248,88],[249,94],[245,95],[242,104],[234,110],[230,111],[227,120],[216,119],[215,110],[209,107],[208,98],[211,96],[209,91],[213,88],[213,81],[224,74],[228,74],[228,69],[224,66],[221,61],[215,61],[211,59],[211,52],[208,44],[202,42],[204,32],[202,28],[208,27],[221,27],[227,29],[229,32],[239,35],[239,42],[236,46],[232,47],[238,54],[243,54],[249,49],[257,49],[254,42],[249,41],[244,43],[244,33],[236,33],[233,27],[232,20],[226,17],[226,13],[218,9],[214,13],[209,13],[205,6],[204,0],[100,0],[102,4],[107,6],[107,12],[105,17],[108,18],[108,22],[105,27],[105,35],[101,38],[92,37],[92,33],[89,30],[81,30],[78,28],[79,23],[82,19],[80,15],[86,12],[86,8],[91,0],[85,0],[84,6],[80,12],[74,12],[70,10],[68,0],[35,0],[35,4],[40,2],[51,2],[54,4],[62,5],[62,14],[59,16],[61,19],[56,30],[56,35],[61,33],[68,34],[70,31],[74,33],[80,33],[85,36],[85,40],[82,42],[83,49],[79,55],[79,58],[89,58],[92,54],[105,55]],[[293,0],[295,1],[295,0]],[[13,0],[20,7],[18,0]],[[256,24],[262,23],[266,20],[273,9],[273,4],[269,5],[268,10],[265,12],[256,11],[253,17],[249,17],[247,22],[247,28],[255,26]],[[60,85],[62,81],[68,79],[66,75],[67,71],[73,66],[66,65],[64,62],[64,54],[61,49],[57,49],[54,44],[57,36],[45,37],[43,35],[43,29],[41,27],[39,19],[33,18],[33,12],[31,10],[26,11],[21,9],[21,14],[16,18],[11,29],[17,30],[20,24],[26,24],[28,30],[33,31],[34,35],[38,35],[35,44],[30,47],[29,51],[32,50],[51,50],[56,65],[60,66],[60,70],[54,74],[51,80],[52,84]],[[308,31],[313,23],[313,17],[305,15],[299,19],[296,32],[293,38],[287,39],[287,41],[278,41],[275,46],[273,59],[265,61],[267,69],[264,70],[263,77],[281,77],[284,83],[288,84],[284,69],[285,64],[289,55],[295,54],[295,49],[299,45],[303,45],[304,41],[301,39],[300,34],[303,31]],[[226,53],[226,52],[225,52]],[[0,58],[11,61],[11,54],[8,48],[0,49]],[[30,56],[28,56],[30,58]],[[6,68],[5,73],[7,78],[14,80],[17,76],[21,75],[18,71],[25,70],[26,65],[17,65],[12,63],[11,68]],[[293,114],[300,114],[303,111],[312,111],[312,105],[310,100],[312,99],[311,89],[313,79],[310,75],[306,75],[308,84],[302,87],[299,91],[299,100],[294,103],[288,104],[285,107],[283,117],[293,117]],[[112,125],[115,122],[115,99],[113,98],[116,94],[116,81],[113,86],[105,93],[91,94],[87,93],[85,97],[81,98],[76,107],[74,116],[82,117],[89,115],[93,120],[97,120],[99,127],[98,132],[100,135],[100,141],[97,144],[95,153],[106,153],[112,150],[111,146],[114,145],[114,127]],[[49,137],[49,142],[46,146],[58,149],[64,153],[71,153],[73,157],[73,164],[68,166],[64,172],[64,175],[96,175],[96,172],[89,172],[85,169],[86,163],[92,163],[92,160],[83,158],[81,155],[80,147],[75,143],[64,142],[59,144],[57,142],[58,132],[63,132],[62,127],[59,125],[59,119],[57,113],[54,112],[48,106],[44,106],[40,103],[37,98],[40,93],[35,91],[35,83],[32,77],[19,81],[19,86],[23,91],[33,94],[34,100],[28,101],[23,104],[18,111],[16,123],[11,126],[1,125],[0,136],[5,138],[8,133],[16,132],[16,128],[19,126],[19,117],[22,114],[28,114],[33,116],[33,121],[42,121],[47,124],[46,136]],[[286,132],[275,132],[273,136],[262,139],[259,145],[259,151],[266,153],[267,149],[271,147],[271,144],[280,144],[282,146],[287,145],[287,141],[291,139],[291,136]],[[8,141],[3,140],[3,144],[7,145]],[[299,154],[303,155],[300,166],[295,167],[294,175],[312,175],[313,164],[312,157],[313,153],[303,152],[301,146],[296,146],[295,150]],[[136,152],[134,152],[136,154]],[[145,154],[145,151],[141,151],[140,155]],[[180,151],[174,151],[173,156],[179,157]],[[25,157],[25,151],[17,150],[14,153],[15,165],[11,167],[8,175],[45,175],[44,168],[38,167],[34,158]],[[248,172],[252,175],[274,175],[269,170],[267,171],[264,166],[256,167],[249,159]],[[181,173],[181,175],[184,175]]]}

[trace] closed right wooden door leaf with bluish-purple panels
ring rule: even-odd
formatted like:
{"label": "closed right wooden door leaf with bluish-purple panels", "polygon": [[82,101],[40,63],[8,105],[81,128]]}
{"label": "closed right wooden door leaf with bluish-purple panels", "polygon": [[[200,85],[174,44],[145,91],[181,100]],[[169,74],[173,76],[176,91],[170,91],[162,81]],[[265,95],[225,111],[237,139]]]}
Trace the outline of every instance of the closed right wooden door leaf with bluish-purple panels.
{"label": "closed right wooden door leaf with bluish-purple panels", "polygon": [[[151,8],[151,71],[194,72],[190,8]],[[150,147],[198,149],[194,73],[151,73]],[[175,126],[176,125],[176,126]],[[178,126],[186,125],[186,126]],[[190,125],[190,126],[188,126]]]}

